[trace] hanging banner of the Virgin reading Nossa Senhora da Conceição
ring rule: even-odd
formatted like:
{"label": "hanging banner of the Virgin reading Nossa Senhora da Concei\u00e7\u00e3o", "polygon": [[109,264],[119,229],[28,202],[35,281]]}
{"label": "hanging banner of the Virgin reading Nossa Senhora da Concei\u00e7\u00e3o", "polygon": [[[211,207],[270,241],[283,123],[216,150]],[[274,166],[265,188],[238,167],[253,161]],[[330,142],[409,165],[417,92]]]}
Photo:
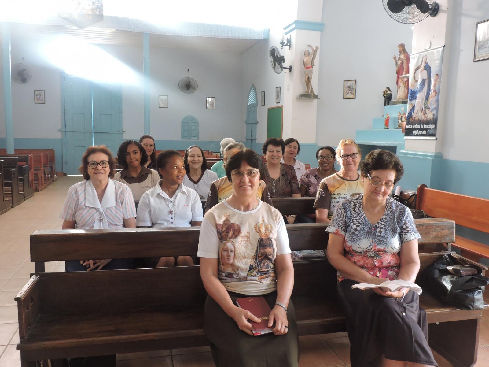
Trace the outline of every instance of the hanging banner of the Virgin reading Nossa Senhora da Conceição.
{"label": "hanging banner of the Virgin reading Nossa Senhora da Concei\u00e7\u00e3o", "polygon": [[409,55],[405,139],[436,139],[443,46]]}

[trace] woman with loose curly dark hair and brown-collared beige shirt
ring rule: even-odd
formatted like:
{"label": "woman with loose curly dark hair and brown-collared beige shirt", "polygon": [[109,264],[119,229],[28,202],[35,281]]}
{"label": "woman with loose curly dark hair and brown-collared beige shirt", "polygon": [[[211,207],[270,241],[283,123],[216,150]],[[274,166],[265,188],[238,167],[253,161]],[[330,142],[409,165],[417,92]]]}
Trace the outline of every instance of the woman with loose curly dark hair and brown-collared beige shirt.
{"label": "woman with loose curly dark hair and brown-collared beige shirt", "polygon": [[135,140],[124,141],[117,152],[117,162],[123,169],[115,174],[114,180],[129,186],[136,206],[141,195],[159,181],[158,172],[145,166],[147,161],[146,150]]}

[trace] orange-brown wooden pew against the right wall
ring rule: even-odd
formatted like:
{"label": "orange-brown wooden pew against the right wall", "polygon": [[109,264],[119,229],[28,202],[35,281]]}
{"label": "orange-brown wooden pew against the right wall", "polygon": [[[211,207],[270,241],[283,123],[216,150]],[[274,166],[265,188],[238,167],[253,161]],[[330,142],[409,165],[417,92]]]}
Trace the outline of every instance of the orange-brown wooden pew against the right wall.
{"label": "orange-brown wooden pew against the right wall", "polygon": [[[489,200],[473,196],[418,186],[416,208],[430,217],[444,217],[470,229],[489,233]],[[455,236],[452,245],[462,250],[462,256],[474,261],[489,259],[489,246],[471,239]]]}

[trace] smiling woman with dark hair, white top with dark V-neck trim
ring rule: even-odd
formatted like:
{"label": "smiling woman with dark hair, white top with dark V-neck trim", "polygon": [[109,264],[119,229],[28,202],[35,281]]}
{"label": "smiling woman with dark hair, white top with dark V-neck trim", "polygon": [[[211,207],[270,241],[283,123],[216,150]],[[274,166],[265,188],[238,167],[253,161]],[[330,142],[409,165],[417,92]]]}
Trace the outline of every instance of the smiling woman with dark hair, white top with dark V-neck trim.
{"label": "smiling woman with dark hair, white top with dark V-neck trim", "polygon": [[205,200],[211,184],[219,178],[217,173],[207,169],[204,152],[197,145],[187,148],[183,163],[187,173],[183,179],[183,184],[197,191],[200,199]]}

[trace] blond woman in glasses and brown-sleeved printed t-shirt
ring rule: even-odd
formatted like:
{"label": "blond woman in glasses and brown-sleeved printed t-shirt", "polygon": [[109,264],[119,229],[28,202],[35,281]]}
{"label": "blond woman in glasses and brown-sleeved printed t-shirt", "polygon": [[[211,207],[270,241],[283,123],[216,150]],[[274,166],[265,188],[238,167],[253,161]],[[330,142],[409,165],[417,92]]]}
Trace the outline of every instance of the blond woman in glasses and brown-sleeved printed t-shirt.
{"label": "blond woman in glasses and brown-sleeved printed t-shirt", "polygon": [[314,202],[317,223],[329,223],[339,203],[363,193],[363,182],[358,173],[361,158],[360,147],[355,141],[343,139],[339,142],[336,160],[341,168],[323,179],[317,189]]}

